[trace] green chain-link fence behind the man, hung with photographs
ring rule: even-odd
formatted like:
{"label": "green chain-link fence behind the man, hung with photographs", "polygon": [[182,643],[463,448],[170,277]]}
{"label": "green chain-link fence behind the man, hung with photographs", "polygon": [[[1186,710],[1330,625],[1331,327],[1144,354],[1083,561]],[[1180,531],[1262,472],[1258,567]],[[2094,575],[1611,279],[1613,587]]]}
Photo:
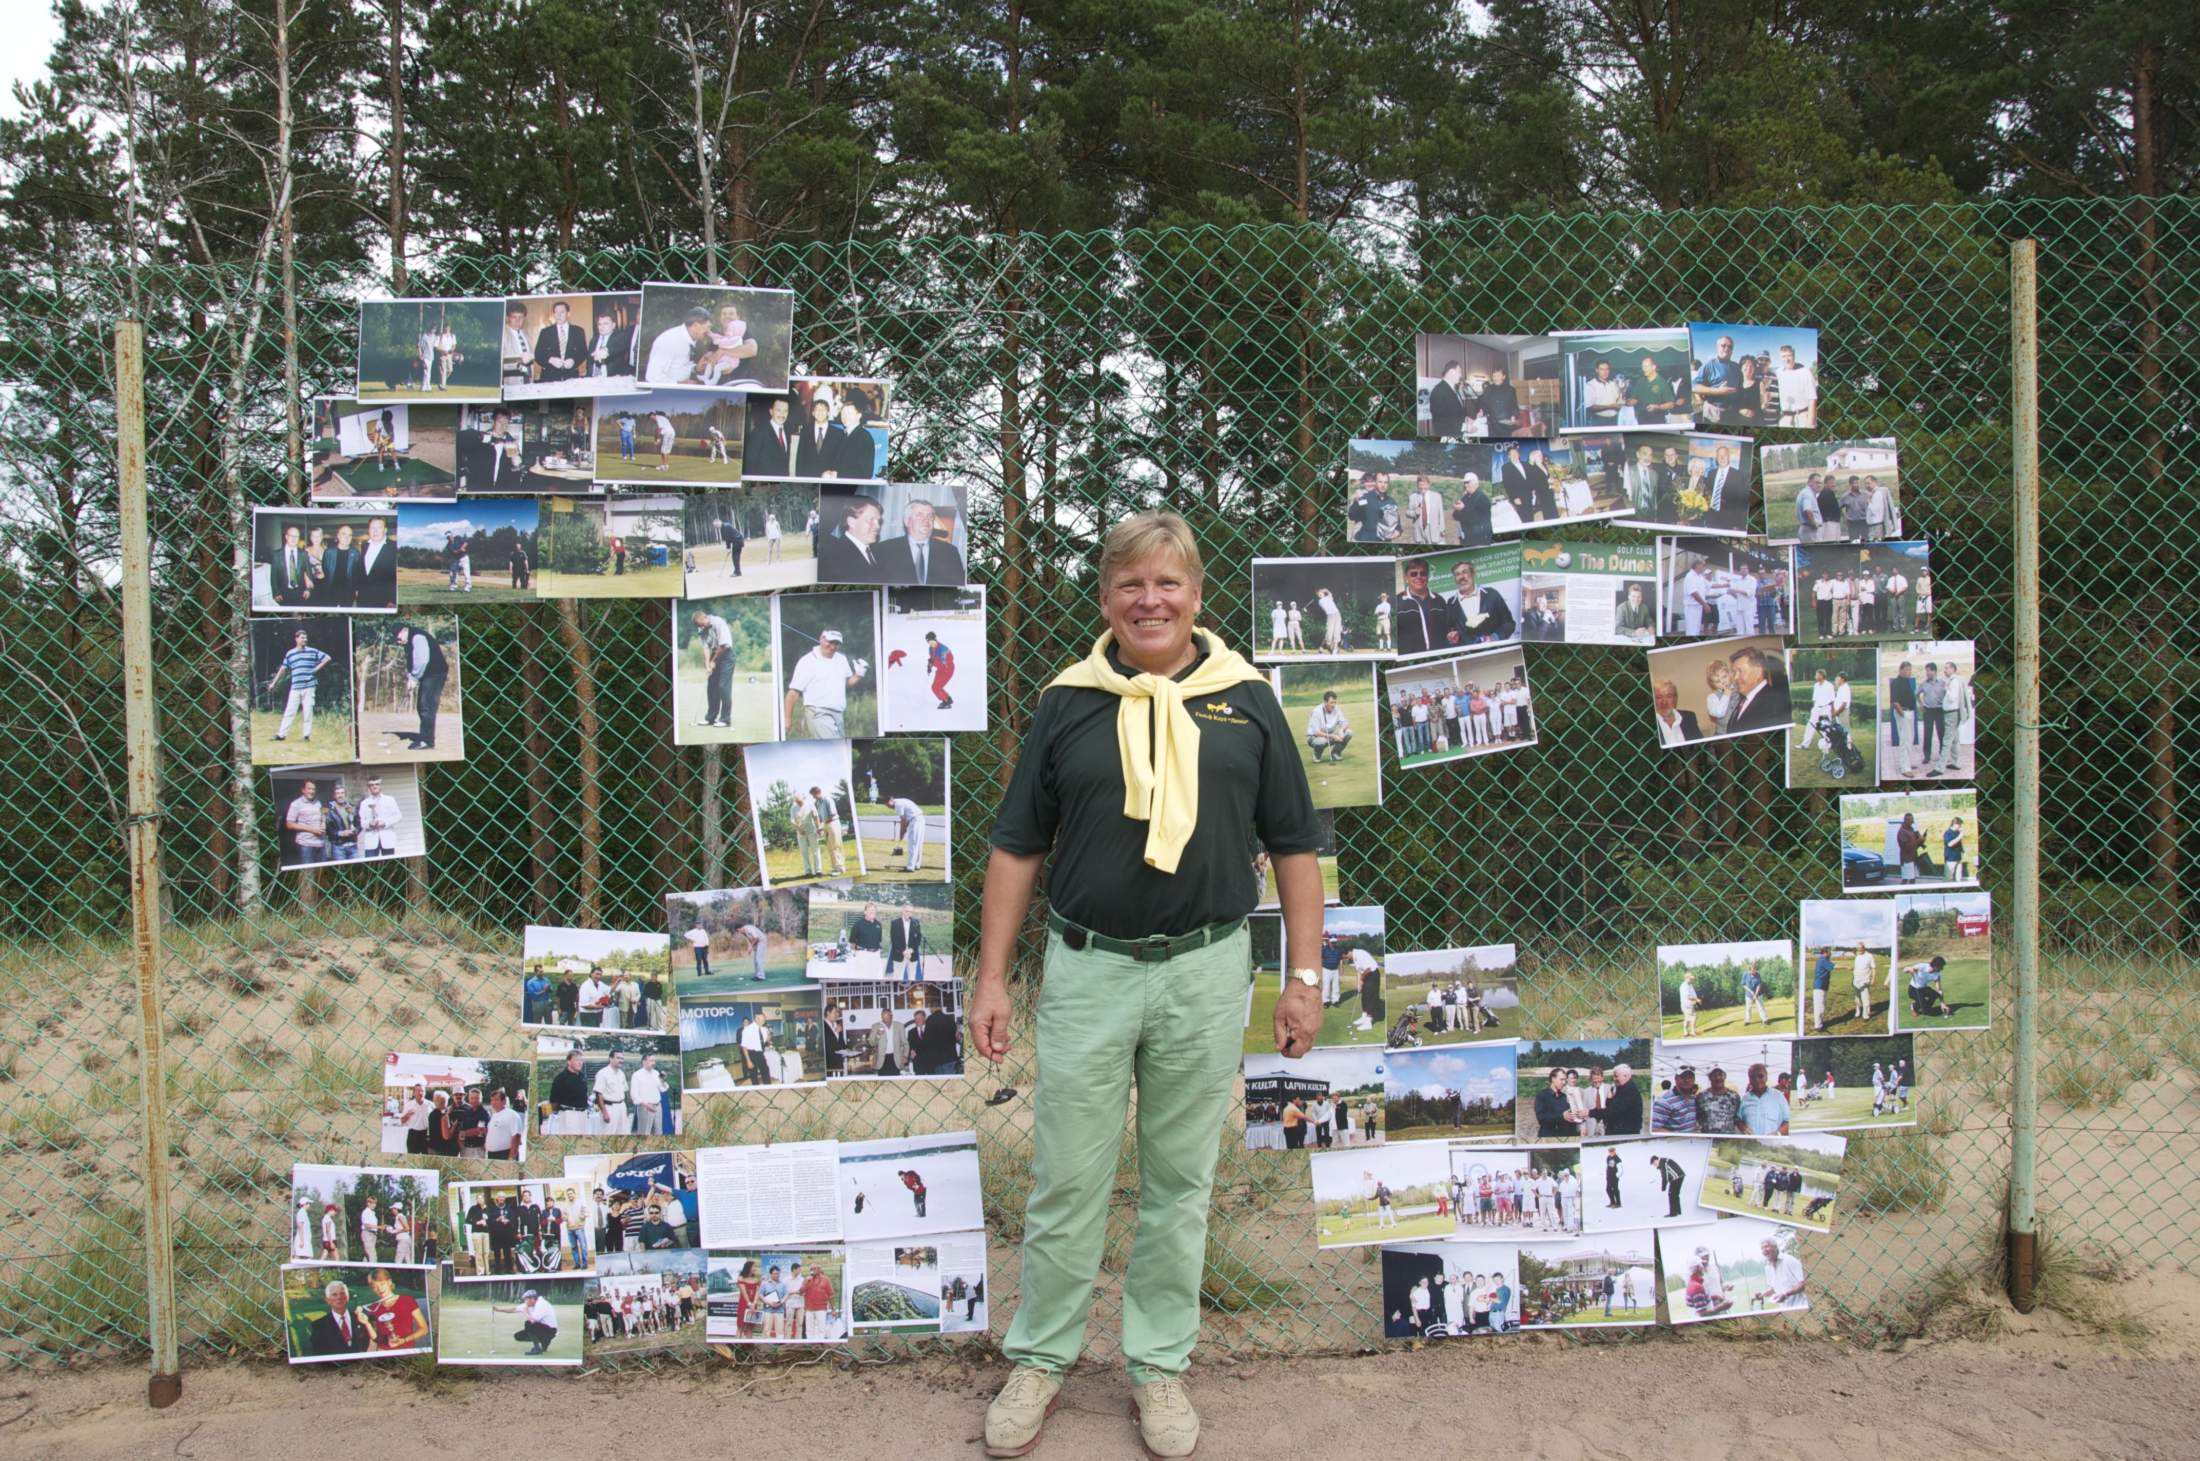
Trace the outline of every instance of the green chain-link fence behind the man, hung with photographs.
{"label": "green chain-link fence behind the man, hung with photographs", "polygon": [[[1885,1338],[1916,1329],[1934,1274],[1993,1267],[2009,1171],[2006,240],[2020,235],[2042,240],[2055,724],[2039,1184],[2050,1223],[2070,1237],[2141,1261],[2200,1254],[2200,1010],[2178,893],[2185,585],[2200,570],[2187,508],[2200,458],[2185,323],[2196,222],[2189,207],[2163,205],[2149,222],[2105,202],[1485,218],[1351,238],[1234,229],[812,244],[730,262],[799,293],[803,367],[895,381],[895,477],[972,486],[975,565],[992,585],[994,733],[955,746],[961,955],[975,953],[990,814],[1034,689],[1093,634],[1087,565],[1109,519],[1155,502],[1186,510],[1212,554],[1210,620],[1243,642],[1252,557],[1344,546],[1344,440],[1412,433],[1417,330],[1817,326],[1817,436],[1901,438],[1907,517],[1934,541],[1936,631],[1980,645],[1980,860],[2002,893],[1995,1030],[1921,1036],[1921,1124],[1852,1142],[1857,1210],[1806,1245],[1817,1318]],[[702,277],[697,257],[475,260],[416,293],[691,277]],[[306,392],[348,383],[356,288],[337,275],[301,286]],[[651,929],[664,891],[755,874],[739,759],[671,746],[664,603],[482,605],[462,609],[469,757],[422,770],[425,876],[350,869],[310,898],[262,858],[260,900],[242,907],[238,823],[266,825],[268,790],[253,775],[240,805],[231,770],[231,499],[286,493],[279,315],[246,348],[246,290],[242,273],[194,268],[0,275],[11,495],[0,1353],[13,1362],[145,1344],[117,836],[112,319],[136,315],[150,334],[165,1078],[187,1351],[277,1349],[288,1166],[376,1160],[383,1052],[530,1054],[515,973],[526,922]],[[1390,948],[1516,940],[1529,1034],[1648,1034],[1654,944],[1780,935],[1797,898],[1839,893],[1833,805],[1782,790],[1764,742],[1661,755],[1637,651],[1531,658],[1540,746],[1500,764],[1386,768],[1379,810],[1338,814],[1342,891],[1388,909]],[[583,724],[596,726],[594,797]],[[592,799],[601,819],[585,814]],[[1027,1019],[1019,1030],[1027,1036]],[[1030,1087],[1027,1052],[1023,1039],[1005,1083]],[[994,1085],[979,1072],[691,1098],[678,1144],[975,1127],[1005,1316],[1030,1153],[1023,1102],[983,1105]],[[528,1171],[601,1144],[539,1140]],[[1247,1153],[1232,1131],[1221,1173],[1210,1351],[1377,1340],[1375,1250],[1316,1252],[1302,1157]],[[1133,1201],[1126,1166],[1100,1329],[1113,1329]],[[1111,1353],[1111,1338],[1096,1349]]]}

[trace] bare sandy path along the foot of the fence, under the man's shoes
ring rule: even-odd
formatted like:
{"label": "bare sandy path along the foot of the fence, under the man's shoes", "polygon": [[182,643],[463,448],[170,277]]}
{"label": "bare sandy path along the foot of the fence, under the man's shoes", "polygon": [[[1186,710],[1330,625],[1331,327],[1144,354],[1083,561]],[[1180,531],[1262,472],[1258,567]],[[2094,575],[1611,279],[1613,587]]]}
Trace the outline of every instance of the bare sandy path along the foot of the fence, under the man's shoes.
{"label": "bare sandy path along the foot of the fence, under the man's shoes", "polygon": [[[1210,1461],[1505,1454],[1520,1461],[1727,1457],[2189,1457],[2200,1426],[2189,1355],[2130,1355],[2055,1333],[1846,1351],[1784,1338],[1571,1344],[1551,1336],[1344,1360],[1201,1364],[1192,1395]],[[0,1384],[0,1450],[22,1461],[398,1452],[477,1457],[524,1437],[559,1454],[979,1457],[1003,1375],[977,1353],[843,1371],[834,1358],[660,1373],[460,1371],[433,1388],[352,1366],[189,1371],[169,1410],[143,1371],[106,1366]],[[640,1424],[638,1424],[640,1421]],[[392,1428],[394,1426],[394,1428]],[[1140,1446],[1115,1371],[1080,1371],[1038,1457]]]}

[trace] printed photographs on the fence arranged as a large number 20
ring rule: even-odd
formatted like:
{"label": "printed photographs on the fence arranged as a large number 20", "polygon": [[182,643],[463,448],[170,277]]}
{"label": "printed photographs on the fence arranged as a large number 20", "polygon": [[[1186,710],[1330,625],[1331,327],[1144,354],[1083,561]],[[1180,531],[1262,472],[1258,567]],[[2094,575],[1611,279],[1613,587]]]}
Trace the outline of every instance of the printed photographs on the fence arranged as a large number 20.
{"label": "printed photographs on the fence arranged as a large number 20", "polygon": [[[1333,841],[1318,951],[1254,913],[1245,1146],[1309,1153],[1320,1248],[1384,1250],[1390,1338],[1808,1307],[1846,1133],[1916,1124],[1918,1030],[1989,1028],[1978,653],[1932,636],[1892,438],[1756,436],[1815,431],[1817,372],[1808,328],[1423,334],[1415,438],[1344,462],[1342,541],[1390,552],[1250,563],[1250,658],[1324,819],[1382,805],[1386,759],[1536,750],[1529,645],[1639,647],[1657,746],[1778,730],[1791,788],[1841,792],[1844,898],[1659,946],[1630,1039],[1525,1028],[1511,944],[1390,948]],[[667,891],[660,929],[528,926],[530,1052],[387,1056],[383,1153],[484,1166],[299,1168],[293,1358],[988,1329],[970,1133],[519,1175],[532,1142],[680,1138],[697,1100],[966,1072],[950,737],[990,728],[988,592],[968,488],[891,477],[893,409],[893,381],[794,374],[785,290],[361,304],[310,506],[251,524],[279,865],[427,856],[422,766],[466,757],[460,605],[645,598],[673,744],[741,748],[757,871]],[[1291,966],[1322,1025],[1283,1058]]]}

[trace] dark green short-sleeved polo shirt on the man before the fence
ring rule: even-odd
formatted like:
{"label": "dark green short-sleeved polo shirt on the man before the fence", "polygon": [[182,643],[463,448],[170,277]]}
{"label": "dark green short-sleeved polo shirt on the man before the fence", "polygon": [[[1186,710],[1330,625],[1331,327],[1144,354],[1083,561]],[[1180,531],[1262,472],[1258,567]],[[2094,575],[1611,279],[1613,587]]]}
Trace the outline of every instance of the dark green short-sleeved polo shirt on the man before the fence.
{"label": "dark green short-sleeved polo shirt on the man before the fence", "polygon": [[[1113,651],[1109,658],[1131,673]],[[1038,700],[992,845],[1019,856],[1052,852],[1054,911],[1109,937],[1190,933],[1252,913],[1252,832],[1269,854],[1313,852],[1320,838],[1276,693],[1247,680],[1186,702],[1199,724],[1199,823],[1173,874],[1146,865],[1148,827],[1122,814],[1115,706],[1109,691],[1076,686]]]}

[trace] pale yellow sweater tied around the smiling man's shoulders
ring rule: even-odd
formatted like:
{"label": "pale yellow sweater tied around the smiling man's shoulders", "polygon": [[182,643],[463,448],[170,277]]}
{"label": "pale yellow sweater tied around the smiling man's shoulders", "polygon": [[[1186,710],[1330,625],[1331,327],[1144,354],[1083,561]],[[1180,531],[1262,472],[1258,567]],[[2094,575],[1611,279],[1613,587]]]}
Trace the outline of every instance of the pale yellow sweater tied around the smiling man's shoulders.
{"label": "pale yellow sweater tied around the smiling man's shoulders", "polygon": [[[1146,823],[1146,865],[1177,871],[1184,845],[1199,825],[1199,722],[1184,708],[1186,697],[1217,695],[1247,680],[1267,682],[1236,649],[1206,629],[1208,658],[1184,680],[1168,675],[1124,675],[1107,658],[1115,642],[1109,629],[1093,651],[1054,675],[1058,684],[1111,691],[1115,704],[1115,750],[1122,753],[1122,814]],[[1151,706],[1148,706],[1151,702]]]}

